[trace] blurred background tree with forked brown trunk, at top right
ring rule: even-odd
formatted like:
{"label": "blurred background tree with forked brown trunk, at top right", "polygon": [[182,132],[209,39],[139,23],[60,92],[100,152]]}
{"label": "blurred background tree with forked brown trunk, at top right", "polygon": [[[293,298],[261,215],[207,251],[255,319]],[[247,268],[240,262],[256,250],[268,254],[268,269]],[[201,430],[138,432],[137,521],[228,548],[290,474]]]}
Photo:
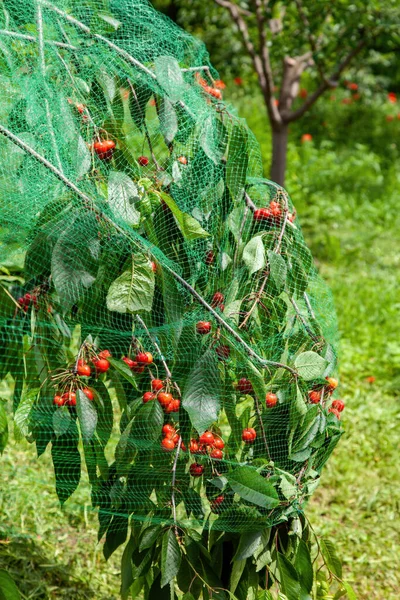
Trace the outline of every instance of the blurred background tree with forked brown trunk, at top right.
{"label": "blurred background tree with forked brown trunk, at top right", "polygon": [[[309,0],[208,0],[202,6],[197,5],[197,0],[189,6],[181,0],[164,0],[156,4],[172,18],[184,21],[185,26],[191,22],[192,30],[200,34],[205,14],[208,22],[217,19],[221,25],[214,28],[218,45],[221,46],[222,35],[228,54],[239,57],[235,60],[233,56],[236,67],[242,61],[243,51],[246,53],[272,130],[270,177],[282,185],[290,123],[301,119],[325,92],[337,87],[349,66],[359,65],[376,51],[392,52],[399,45],[399,10],[392,0],[369,2],[367,6],[361,1],[328,4]],[[227,17],[235,26],[236,37],[225,36],[222,31]],[[229,27],[228,31],[232,33]],[[228,59],[224,50],[219,52],[222,60]],[[300,79],[305,70],[313,89],[302,90],[299,101]]]}

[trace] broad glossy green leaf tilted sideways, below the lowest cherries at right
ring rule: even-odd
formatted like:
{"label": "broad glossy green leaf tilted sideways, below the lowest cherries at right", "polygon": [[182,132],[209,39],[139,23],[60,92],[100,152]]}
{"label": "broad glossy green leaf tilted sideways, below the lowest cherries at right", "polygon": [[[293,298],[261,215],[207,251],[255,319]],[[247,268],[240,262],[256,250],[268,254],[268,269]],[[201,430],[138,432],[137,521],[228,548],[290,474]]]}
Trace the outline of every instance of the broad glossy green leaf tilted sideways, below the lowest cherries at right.
{"label": "broad glossy green leaf tilted sideways, below the lowest cherries at right", "polygon": [[252,467],[238,467],[227,475],[229,485],[241,498],[262,506],[275,508],[279,504],[274,486]]}

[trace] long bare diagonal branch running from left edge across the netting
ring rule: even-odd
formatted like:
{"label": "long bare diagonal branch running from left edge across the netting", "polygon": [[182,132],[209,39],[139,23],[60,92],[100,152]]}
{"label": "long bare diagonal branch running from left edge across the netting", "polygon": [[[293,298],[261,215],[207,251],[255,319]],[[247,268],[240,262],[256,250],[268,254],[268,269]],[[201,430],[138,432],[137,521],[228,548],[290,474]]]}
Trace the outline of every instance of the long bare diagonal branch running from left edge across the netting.
{"label": "long bare diagonal branch running from left edge across the netting", "polygon": [[[67,177],[65,177],[65,175],[61,171],[59,171],[59,169],[57,169],[57,167],[55,167],[52,163],[50,163],[46,158],[44,158],[43,156],[41,156],[40,154],[38,154],[38,152],[36,152],[36,150],[34,150],[33,148],[31,148],[28,144],[26,144],[23,140],[21,140],[19,137],[17,137],[16,135],[14,135],[9,129],[7,129],[3,125],[0,125],[0,133],[2,135],[4,135],[5,137],[7,137],[9,140],[11,140],[19,148],[21,148],[22,150],[24,150],[25,152],[27,152],[28,154],[30,154],[31,156],[33,156],[33,158],[35,158],[39,163],[41,163],[42,165],[44,165],[47,169],[49,169],[49,171],[51,171],[53,173],[53,175],[55,175],[60,181],[62,181],[69,189],[71,189],[73,192],[75,192],[76,195],[79,198],[81,198],[87,204],[88,208],[90,208],[91,210],[93,210],[93,212],[95,212],[96,214],[98,214],[102,219],[104,219],[105,222],[107,222],[109,225],[111,225],[116,231],[118,231],[119,233],[121,233],[122,235],[124,235],[127,239],[129,239],[130,242],[132,242],[137,247],[139,247],[141,251],[146,251],[146,252],[150,251],[151,252],[151,249],[149,249],[148,246],[145,246],[144,244],[140,243],[139,240],[133,238],[131,236],[131,234],[128,234],[122,227],[120,227],[119,225],[117,225],[116,223],[114,223],[114,221],[112,219],[110,219],[110,217],[108,217],[106,214],[104,214],[94,204],[94,201],[93,201],[92,198],[90,198],[84,192],[82,192],[72,181],[70,181]],[[245,350],[247,351],[247,353],[249,354],[249,356],[251,356],[252,358],[254,358],[262,367],[266,367],[266,368],[268,368],[268,367],[275,367],[275,368],[286,369],[294,377],[297,377],[297,371],[295,371],[294,369],[292,369],[288,365],[284,365],[283,363],[279,363],[279,362],[275,362],[275,361],[271,361],[271,360],[266,360],[266,359],[262,358],[261,356],[259,356],[251,348],[251,346],[249,346],[249,344],[239,335],[239,333],[237,331],[235,331],[233,329],[233,327],[231,327],[231,325],[229,325],[229,323],[227,323],[223,319],[223,317],[220,314],[218,314],[214,310],[214,308],[212,306],[210,306],[208,304],[208,302],[206,300],[204,300],[204,298],[185,279],[183,279],[183,277],[181,277],[179,275],[179,273],[176,273],[168,264],[164,264],[163,267],[164,267],[165,270],[167,270],[174,277],[174,279],[176,279],[176,281],[178,281],[185,289],[187,289],[188,292],[210,314],[212,314],[212,316],[219,323],[219,325],[221,325],[221,327],[223,327],[226,331],[228,331],[232,335],[232,337],[241,346],[243,346],[243,348],[245,348]]]}

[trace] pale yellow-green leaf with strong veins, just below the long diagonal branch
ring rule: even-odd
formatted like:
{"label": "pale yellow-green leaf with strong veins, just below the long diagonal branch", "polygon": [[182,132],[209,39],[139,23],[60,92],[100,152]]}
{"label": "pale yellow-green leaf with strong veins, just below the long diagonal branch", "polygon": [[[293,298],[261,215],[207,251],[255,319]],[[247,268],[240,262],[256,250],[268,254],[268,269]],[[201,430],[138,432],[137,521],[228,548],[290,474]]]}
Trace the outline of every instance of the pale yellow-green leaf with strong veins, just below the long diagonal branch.
{"label": "pale yellow-green leaf with strong veins, just below the long diagonal branch", "polygon": [[107,294],[108,310],[119,313],[151,311],[154,296],[154,273],[149,260],[133,255],[129,270],[110,285]]}

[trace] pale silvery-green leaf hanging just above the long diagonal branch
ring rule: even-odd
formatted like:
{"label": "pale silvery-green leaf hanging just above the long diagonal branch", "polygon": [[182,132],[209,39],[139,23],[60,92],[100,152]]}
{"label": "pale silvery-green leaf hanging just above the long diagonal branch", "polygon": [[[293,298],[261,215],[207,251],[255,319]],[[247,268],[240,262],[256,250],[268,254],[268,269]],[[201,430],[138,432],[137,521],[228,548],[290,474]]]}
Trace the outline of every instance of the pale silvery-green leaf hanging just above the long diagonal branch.
{"label": "pale silvery-green leaf hanging just above the long diagonal branch", "polygon": [[140,212],[135,203],[140,200],[138,189],[126,173],[111,171],[108,176],[108,204],[115,217],[128,225],[138,225]]}

